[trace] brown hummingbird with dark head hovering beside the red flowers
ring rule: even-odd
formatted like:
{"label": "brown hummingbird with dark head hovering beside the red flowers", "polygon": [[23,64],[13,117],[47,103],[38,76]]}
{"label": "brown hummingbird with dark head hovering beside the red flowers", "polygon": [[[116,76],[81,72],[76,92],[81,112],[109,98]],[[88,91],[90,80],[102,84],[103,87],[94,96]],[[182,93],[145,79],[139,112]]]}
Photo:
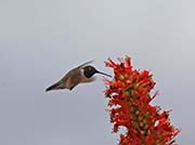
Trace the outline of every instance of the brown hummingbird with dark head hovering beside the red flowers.
{"label": "brown hummingbird with dark head hovering beside the red flowers", "polygon": [[78,67],[69,70],[60,81],[49,87],[46,91],[69,89],[73,90],[77,84],[83,82],[91,82],[94,80],[94,74],[101,74],[107,77],[112,77],[105,72],[96,70],[93,66],[88,65],[93,61],[87,62]]}

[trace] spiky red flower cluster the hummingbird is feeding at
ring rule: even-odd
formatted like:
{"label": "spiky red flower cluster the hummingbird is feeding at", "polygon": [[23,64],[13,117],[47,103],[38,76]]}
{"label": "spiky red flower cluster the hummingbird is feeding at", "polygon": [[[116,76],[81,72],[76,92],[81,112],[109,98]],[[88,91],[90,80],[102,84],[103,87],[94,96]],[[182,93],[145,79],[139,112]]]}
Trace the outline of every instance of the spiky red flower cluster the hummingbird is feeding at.
{"label": "spiky red flower cluster the hummingbird is feeding at", "polygon": [[133,69],[129,56],[119,58],[118,64],[108,58],[106,66],[115,75],[113,80],[105,80],[113,131],[127,129],[119,145],[174,145],[179,130],[170,124],[169,111],[150,104],[157,95],[150,94],[155,85],[152,75]]}

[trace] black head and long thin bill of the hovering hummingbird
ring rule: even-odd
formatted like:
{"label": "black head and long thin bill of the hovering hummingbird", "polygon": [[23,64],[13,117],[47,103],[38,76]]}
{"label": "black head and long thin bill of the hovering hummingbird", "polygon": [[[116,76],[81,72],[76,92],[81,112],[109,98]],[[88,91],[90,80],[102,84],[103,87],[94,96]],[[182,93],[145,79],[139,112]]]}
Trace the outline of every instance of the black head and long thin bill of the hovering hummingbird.
{"label": "black head and long thin bill of the hovering hummingbird", "polygon": [[112,77],[110,75],[107,75],[107,74],[104,74],[104,72],[101,72],[99,70],[96,70],[93,66],[91,65],[88,65],[88,66],[84,66],[83,68],[83,75],[87,77],[87,78],[91,78],[94,74],[102,74],[104,76],[107,76],[107,77]]}

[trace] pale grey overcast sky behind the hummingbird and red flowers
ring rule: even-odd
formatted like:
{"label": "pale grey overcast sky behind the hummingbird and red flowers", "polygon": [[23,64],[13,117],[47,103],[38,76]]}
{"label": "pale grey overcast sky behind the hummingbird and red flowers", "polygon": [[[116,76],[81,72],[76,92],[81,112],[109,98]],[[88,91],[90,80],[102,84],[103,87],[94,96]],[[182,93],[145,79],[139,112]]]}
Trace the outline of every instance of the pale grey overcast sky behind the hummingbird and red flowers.
{"label": "pale grey overcast sky behind the hummingbird and red flowers", "polygon": [[173,109],[180,145],[195,144],[193,0],[1,0],[0,144],[116,145],[102,76],[72,92],[44,89],[90,60],[131,55]]}

